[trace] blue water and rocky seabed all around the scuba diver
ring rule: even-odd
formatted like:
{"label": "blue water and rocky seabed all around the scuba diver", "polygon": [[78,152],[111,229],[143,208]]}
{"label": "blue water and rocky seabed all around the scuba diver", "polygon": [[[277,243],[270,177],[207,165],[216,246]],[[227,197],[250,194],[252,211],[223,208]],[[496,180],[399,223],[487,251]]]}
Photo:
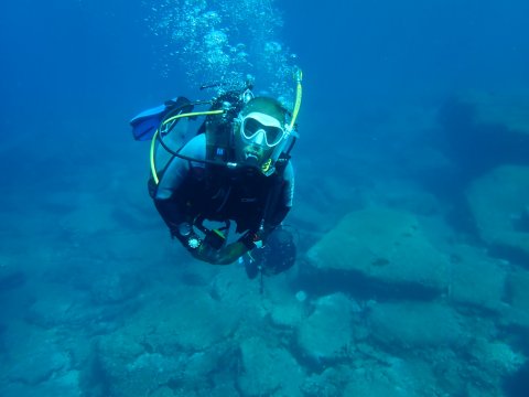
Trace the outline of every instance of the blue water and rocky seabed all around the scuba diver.
{"label": "blue water and rocky seabed all around the scuba diver", "polygon": [[[529,2],[0,3],[0,396],[527,396]],[[292,104],[298,260],[194,261],[138,112]]]}

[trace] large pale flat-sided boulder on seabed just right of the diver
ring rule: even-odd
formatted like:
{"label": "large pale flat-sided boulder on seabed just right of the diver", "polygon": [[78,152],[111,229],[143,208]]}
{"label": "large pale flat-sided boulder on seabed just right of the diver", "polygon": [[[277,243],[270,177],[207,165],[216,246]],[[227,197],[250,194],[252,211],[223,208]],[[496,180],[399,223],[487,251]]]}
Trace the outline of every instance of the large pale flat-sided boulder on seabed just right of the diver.
{"label": "large pale flat-sided boulder on seabed just right of the diver", "polygon": [[447,262],[412,214],[387,207],[348,214],[309,251],[315,285],[331,273],[352,289],[368,282],[402,293],[443,291]]}

